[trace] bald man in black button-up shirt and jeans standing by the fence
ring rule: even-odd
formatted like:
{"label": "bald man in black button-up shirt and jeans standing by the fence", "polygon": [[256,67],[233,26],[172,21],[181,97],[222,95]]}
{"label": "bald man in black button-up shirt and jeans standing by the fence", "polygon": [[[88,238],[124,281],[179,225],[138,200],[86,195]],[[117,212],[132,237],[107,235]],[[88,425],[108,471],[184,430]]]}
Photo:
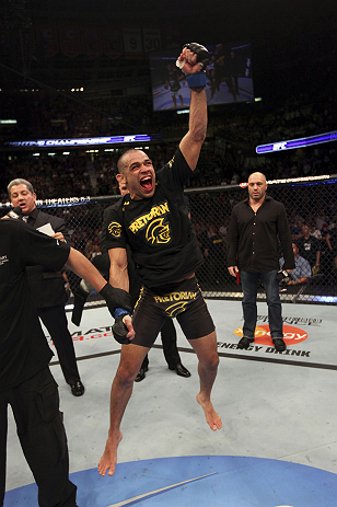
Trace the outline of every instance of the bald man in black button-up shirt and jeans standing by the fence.
{"label": "bald man in black button-up shirt and jeans standing by the fence", "polygon": [[228,269],[235,277],[240,270],[243,290],[243,337],[237,347],[248,348],[254,342],[260,279],[266,290],[270,335],[275,348],[283,352],[282,310],[276,278],[278,241],[284,257],[283,269],[290,273],[294,268],[294,258],[284,206],[266,195],[267,186],[264,174],[251,174],[248,198],[233,207],[226,234]]}

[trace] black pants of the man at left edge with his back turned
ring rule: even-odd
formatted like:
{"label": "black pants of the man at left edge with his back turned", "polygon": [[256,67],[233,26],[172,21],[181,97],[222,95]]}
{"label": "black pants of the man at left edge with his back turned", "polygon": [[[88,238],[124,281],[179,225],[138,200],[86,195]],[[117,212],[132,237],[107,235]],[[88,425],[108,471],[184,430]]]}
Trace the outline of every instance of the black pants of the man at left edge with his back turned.
{"label": "black pants of the man at left edge with his back turned", "polygon": [[8,405],[38,487],[39,507],[74,507],[77,486],[69,480],[67,436],[57,383],[49,368],[0,393],[0,506],[5,489]]}

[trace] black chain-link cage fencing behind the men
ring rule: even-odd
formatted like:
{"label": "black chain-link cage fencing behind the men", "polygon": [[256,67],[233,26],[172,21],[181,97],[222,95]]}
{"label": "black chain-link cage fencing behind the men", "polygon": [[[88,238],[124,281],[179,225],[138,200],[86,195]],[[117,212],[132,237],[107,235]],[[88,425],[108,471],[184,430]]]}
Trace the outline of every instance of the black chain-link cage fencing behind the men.
{"label": "black chain-link cage fencing behind the men", "polygon": [[[301,303],[336,304],[337,302],[337,175],[316,176],[268,182],[268,194],[283,203],[292,238],[302,244],[300,255],[311,264],[307,283],[280,285],[282,301]],[[247,196],[244,185],[225,185],[187,188],[190,214],[204,264],[197,272],[205,298],[241,300],[240,280],[230,276],[226,268],[226,229],[234,204]],[[119,196],[45,199],[36,201],[44,211],[66,220],[72,246],[93,260],[100,255],[100,232],[103,211],[117,201]],[[10,204],[0,204],[0,216]],[[303,240],[303,224],[317,239],[315,247]],[[318,263],[317,263],[317,251]],[[281,254],[281,253],[280,253]],[[79,277],[67,272],[69,303],[79,285]],[[265,300],[263,286],[258,299]],[[88,304],[102,302],[100,295],[92,293]]]}

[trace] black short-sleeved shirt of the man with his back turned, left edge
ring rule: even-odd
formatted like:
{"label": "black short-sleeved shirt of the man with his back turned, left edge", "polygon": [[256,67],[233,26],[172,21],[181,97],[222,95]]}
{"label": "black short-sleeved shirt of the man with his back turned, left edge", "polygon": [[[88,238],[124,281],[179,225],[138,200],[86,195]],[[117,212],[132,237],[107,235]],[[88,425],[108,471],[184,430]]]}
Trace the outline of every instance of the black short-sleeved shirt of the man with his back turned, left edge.
{"label": "black short-sleeved shirt of the man with his back turned, left edge", "polygon": [[53,356],[25,268],[61,269],[70,246],[14,219],[0,220],[0,391],[5,391],[36,375]]}

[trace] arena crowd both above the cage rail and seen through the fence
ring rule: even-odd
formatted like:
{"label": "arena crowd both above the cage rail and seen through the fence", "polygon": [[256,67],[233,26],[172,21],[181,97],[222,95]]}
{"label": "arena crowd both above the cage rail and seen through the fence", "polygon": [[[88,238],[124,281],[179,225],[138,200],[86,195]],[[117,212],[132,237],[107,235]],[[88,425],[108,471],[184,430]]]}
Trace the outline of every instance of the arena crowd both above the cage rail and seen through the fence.
{"label": "arena crowd both above the cage rail and seen through the fence", "polygon": [[[258,145],[333,131],[337,92],[314,99],[302,94],[279,104],[259,102],[209,107],[209,138],[189,187],[244,183],[253,171],[265,173],[267,180],[337,174],[336,141],[270,154],[255,153]],[[0,101],[3,101],[3,96]],[[165,141],[150,145],[148,150],[155,168],[171,159],[188,128],[188,115],[176,115],[174,112],[154,114],[152,103],[144,96],[95,101],[88,106],[65,96],[26,94],[20,100],[16,96],[4,101],[2,105],[2,116],[11,117],[15,112],[19,118],[14,130],[0,130],[2,146],[8,140],[18,139],[161,132]],[[100,149],[95,152],[68,150],[67,154],[59,150],[54,154],[40,150],[39,155],[33,155],[33,151],[2,151],[0,200],[8,200],[5,187],[15,177],[28,178],[38,199],[116,195],[119,154],[118,149]],[[336,184],[328,187],[336,195]],[[321,269],[335,276],[337,204],[336,199],[328,198],[324,193],[314,194],[314,191],[311,186],[304,186],[297,193],[295,199],[286,192],[280,200],[289,214],[294,241],[302,238],[303,223],[307,224],[311,234],[319,241],[322,266],[325,266]],[[228,220],[233,204],[240,198],[237,192],[205,194],[202,189],[190,199],[206,266],[213,277],[220,278],[219,281],[219,273],[223,274],[223,270],[219,272],[219,266],[224,264]],[[70,219],[70,227],[73,223],[74,246],[93,258],[100,254],[101,215],[96,211],[94,218],[88,217],[88,214],[94,212],[84,211],[84,208],[65,210],[69,215],[65,218]],[[84,216],[81,217],[81,214]],[[86,226],[79,228],[79,223]]]}

